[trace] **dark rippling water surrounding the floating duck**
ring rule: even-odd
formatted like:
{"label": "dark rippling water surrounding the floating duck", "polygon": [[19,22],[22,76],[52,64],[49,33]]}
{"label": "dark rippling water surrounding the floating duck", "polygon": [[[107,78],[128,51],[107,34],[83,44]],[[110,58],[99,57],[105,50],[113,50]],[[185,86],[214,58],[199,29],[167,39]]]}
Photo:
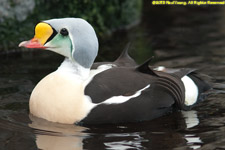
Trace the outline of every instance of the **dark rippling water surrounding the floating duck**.
{"label": "dark rippling water surrounding the floating duck", "polygon": [[[29,115],[29,95],[63,57],[43,51],[0,59],[0,150],[225,149],[225,9],[156,7],[146,0],[140,25],[102,39],[98,61],[113,61],[127,42],[139,63],[198,68],[216,88],[191,111],[133,124],[81,127]],[[22,36],[22,35],[21,35]]]}

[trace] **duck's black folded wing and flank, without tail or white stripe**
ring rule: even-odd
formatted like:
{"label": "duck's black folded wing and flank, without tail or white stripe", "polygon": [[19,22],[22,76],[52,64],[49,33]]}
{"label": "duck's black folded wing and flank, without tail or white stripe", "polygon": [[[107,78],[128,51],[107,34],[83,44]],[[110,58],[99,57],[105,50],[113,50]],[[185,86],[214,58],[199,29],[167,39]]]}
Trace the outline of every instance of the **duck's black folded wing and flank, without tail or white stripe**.
{"label": "duck's black folded wing and flank, without tail or white stripe", "polygon": [[[138,68],[138,67],[137,67]],[[120,104],[100,104],[82,120],[86,124],[122,123],[151,120],[179,109],[184,101],[184,86],[173,75],[153,71],[140,72],[136,67],[115,67],[97,74],[85,88],[93,103],[113,96],[130,96],[143,89],[141,95]]]}

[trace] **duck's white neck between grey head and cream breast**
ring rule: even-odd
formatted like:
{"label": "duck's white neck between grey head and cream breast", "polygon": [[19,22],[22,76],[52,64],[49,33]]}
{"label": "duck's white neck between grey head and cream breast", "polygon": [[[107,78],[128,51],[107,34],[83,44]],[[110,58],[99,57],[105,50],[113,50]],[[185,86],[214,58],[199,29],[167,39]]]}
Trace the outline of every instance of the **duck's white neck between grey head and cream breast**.
{"label": "duck's white neck between grey head and cream breast", "polygon": [[69,60],[68,58],[65,58],[57,71],[65,74],[72,74],[81,80],[86,80],[90,74],[90,68],[84,68],[77,62]]}

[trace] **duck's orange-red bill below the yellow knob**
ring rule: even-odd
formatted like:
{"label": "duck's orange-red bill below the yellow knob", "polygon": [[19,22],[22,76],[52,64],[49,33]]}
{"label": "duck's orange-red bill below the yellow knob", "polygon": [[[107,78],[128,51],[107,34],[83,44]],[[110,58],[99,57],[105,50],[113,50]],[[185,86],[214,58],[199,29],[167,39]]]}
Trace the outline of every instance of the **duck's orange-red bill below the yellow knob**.
{"label": "duck's orange-red bill below the yellow knob", "polygon": [[39,48],[39,49],[46,49],[44,45],[41,44],[40,40],[37,38],[33,38],[29,41],[23,41],[19,44],[19,47],[26,47],[26,48]]}

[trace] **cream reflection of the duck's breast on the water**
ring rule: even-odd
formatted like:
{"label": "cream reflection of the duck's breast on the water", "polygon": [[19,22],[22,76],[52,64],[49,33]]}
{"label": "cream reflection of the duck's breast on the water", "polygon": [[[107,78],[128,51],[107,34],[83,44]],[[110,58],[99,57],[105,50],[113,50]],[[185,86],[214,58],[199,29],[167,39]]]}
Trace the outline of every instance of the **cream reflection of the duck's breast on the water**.
{"label": "cream reflection of the duck's breast on the water", "polygon": [[59,124],[30,115],[36,135],[36,144],[42,150],[83,150],[83,139],[87,136],[85,127]]}

